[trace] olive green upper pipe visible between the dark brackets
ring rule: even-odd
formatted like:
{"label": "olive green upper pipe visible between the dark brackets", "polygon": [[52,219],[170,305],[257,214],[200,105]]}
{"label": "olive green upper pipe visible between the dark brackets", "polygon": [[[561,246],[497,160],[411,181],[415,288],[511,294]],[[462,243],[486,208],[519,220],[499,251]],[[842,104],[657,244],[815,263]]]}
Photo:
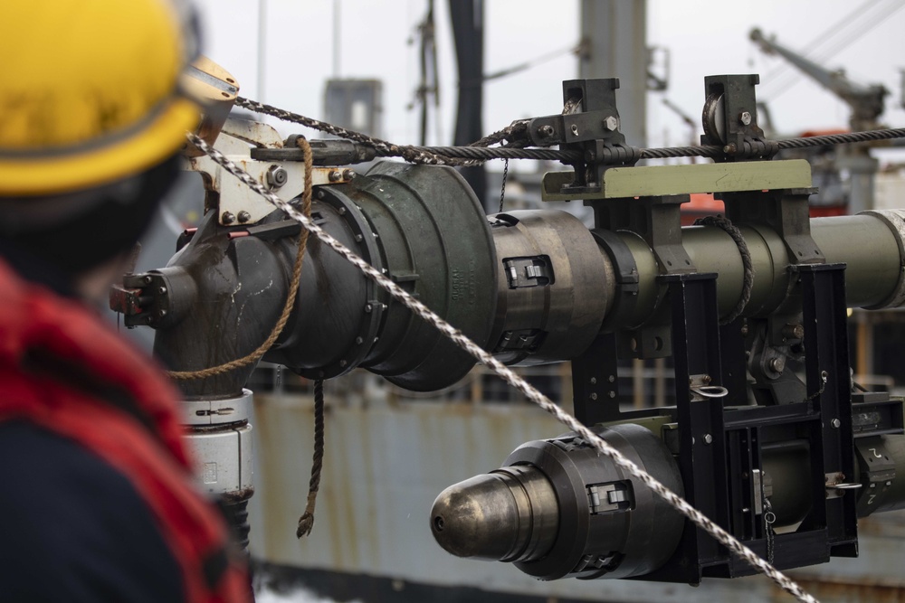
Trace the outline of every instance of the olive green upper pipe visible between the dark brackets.
{"label": "olive green upper pipe visible between the dark brackets", "polygon": [[[744,316],[763,316],[776,310],[788,291],[788,251],[780,236],[765,226],[739,227],[754,265],[754,287]],[[641,325],[653,316],[662,298],[656,282],[659,271],[653,251],[640,237],[620,232],[638,265],[638,300],[630,316],[611,324]],[[815,218],[811,236],[828,263],[843,262],[847,304],[850,307],[881,304],[899,283],[902,259],[890,227],[870,215]],[[698,272],[715,272],[717,303],[727,315],[741,297],[744,266],[735,241],[713,226],[682,229],[682,244]]]}

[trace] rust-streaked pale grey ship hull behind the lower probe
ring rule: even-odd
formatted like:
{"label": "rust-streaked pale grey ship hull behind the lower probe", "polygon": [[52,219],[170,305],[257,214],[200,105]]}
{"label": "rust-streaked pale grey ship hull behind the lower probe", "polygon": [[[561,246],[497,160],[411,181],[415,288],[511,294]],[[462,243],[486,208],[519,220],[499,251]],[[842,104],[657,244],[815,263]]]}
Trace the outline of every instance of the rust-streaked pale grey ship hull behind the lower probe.
{"label": "rust-streaked pale grey ship hull behind the lower probe", "polygon": [[[431,535],[435,496],[489,471],[513,448],[563,431],[520,403],[387,402],[383,391],[327,395],[325,465],[314,530],[295,527],[310,471],[313,401],[255,396],[258,434],[252,498],[252,555],[297,568],[366,574],[443,586],[475,586],[594,601],[786,601],[769,579],[709,579],[699,588],[634,580],[540,582],[500,563],[466,561]],[[862,521],[859,559],[796,570],[824,603],[905,598],[905,513]]]}

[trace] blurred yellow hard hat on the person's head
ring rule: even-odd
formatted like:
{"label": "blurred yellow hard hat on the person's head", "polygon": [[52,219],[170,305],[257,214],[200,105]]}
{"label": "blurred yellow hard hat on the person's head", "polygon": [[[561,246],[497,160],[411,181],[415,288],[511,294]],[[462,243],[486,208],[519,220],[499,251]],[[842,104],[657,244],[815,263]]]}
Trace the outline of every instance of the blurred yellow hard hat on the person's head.
{"label": "blurred yellow hard hat on the person's head", "polygon": [[199,109],[179,92],[195,58],[178,0],[19,0],[0,18],[0,197],[138,174],[176,153]]}

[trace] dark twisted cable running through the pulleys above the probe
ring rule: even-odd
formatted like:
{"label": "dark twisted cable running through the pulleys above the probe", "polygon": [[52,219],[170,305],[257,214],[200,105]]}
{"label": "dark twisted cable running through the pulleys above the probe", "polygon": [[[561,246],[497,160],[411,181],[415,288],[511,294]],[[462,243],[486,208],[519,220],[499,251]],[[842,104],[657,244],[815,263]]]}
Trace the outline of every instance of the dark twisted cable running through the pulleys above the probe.
{"label": "dark twisted cable running through the pulleys above the probe", "polygon": [[[333,136],[348,138],[363,145],[372,146],[376,154],[383,157],[402,157],[414,164],[429,165],[479,165],[490,159],[536,159],[545,161],[561,161],[563,163],[576,163],[584,161],[584,155],[575,150],[556,150],[523,148],[528,146],[528,121],[520,120],[509,127],[504,127],[499,132],[483,137],[481,140],[469,146],[409,146],[394,145],[380,138],[369,137],[361,132],[338,127],[318,119],[306,118],[298,113],[292,113],[281,108],[265,105],[255,100],[236,98],[236,106],[247,108],[256,113],[270,115],[284,121],[311,127]],[[569,105],[563,109],[565,113]],[[892,138],[905,138],[905,127],[894,129],[871,130],[868,132],[849,132],[847,134],[830,134],[820,137],[787,138],[785,140],[771,140],[767,142],[746,142],[741,149],[731,146],[706,145],[706,146],[667,146],[662,148],[642,148],[638,150],[640,159],[666,159],[672,157],[722,157],[726,155],[761,156],[772,155],[775,150],[793,148],[808,148],[812,146],[844,145],[849,143],[871,142],[876,140],[890,140]],[[506,146],[491,144],[509,141]],[[606,149],[604,149],[606,151]],[[601,163],[618,163],[619,156],[606,153],[600,157]]]}

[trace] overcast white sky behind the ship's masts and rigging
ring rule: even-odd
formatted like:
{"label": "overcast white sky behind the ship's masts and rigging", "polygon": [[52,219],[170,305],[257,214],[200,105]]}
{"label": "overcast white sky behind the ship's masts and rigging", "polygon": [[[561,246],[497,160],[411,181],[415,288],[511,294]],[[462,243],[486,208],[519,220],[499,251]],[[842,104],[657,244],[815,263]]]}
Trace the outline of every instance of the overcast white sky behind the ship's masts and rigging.
{"label": "overcast white sky behind the ship's masts and rigging", "polygon": [[[266,3],[267,16],[263,91],[258,90],[257,68],[261,1]],[[323,82],[334,75],[335,2],[342,22],[338,75],[383,80],[385,137],[401,144],[416,143],[418,111],[406,107],[419,80],[417,43],[407,42],[423,18],[426,0],[196,0],[202,14],[205,53],[232,71],[243,96],[321,118]],[[578,40],[577,0],[485,0],[484,5],[487,73]],[[769,102],[776,97],[769,104],[781,132],[847,127],[848,109],[840,100],[804,76],[793,77],[794,68],[775,75],[785,61],[759,52],[748,41],[748,31],[758,26],[767,34],[776,34],[779,42],[805,50],[834,26],[850,22],[829,43],[818,46],[816,56],[820,57],[833,52],[873,14],[902,6],[902,0],[648,0],[647,42],[670,49],[671,88],[666,95],[696,121],[705,75],[760,73],[758,99]],[[859,7],[864,7],[861,13]],[[429,142],[449,144],[456,78],[446,0],[435,0],[435,12],[442,95]],[[891,90],[885,121],[892,127],[905,126],[905,111],[900,107],[903,32],[905,10],[898,10],[825,63],[844,68],[861,83],[882,83]],[[557,113],[562,100],[560,82],[576,74],[576,59],[566,55],[489,82],[484,97],[485,132],[516,118]],[[689,128],[662,106],[662,93],[648,95],[648,135],[649,146],[686,144],[690,135]]]}

